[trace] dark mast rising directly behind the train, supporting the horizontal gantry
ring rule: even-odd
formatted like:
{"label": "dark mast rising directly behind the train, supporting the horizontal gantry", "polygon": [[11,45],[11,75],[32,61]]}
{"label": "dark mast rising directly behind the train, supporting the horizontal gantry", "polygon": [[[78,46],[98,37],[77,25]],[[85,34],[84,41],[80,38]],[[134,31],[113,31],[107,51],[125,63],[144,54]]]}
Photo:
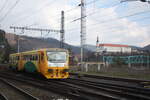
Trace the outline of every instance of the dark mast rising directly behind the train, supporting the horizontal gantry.
{"label": "dark mast rising directly behind the train, supporting the horizontal gantry", "polygon": [[60,30],[60,48],[64,48],[64,35],[65,35],[65,30],[64,30],[64,11],[61,11],[61,30]]}

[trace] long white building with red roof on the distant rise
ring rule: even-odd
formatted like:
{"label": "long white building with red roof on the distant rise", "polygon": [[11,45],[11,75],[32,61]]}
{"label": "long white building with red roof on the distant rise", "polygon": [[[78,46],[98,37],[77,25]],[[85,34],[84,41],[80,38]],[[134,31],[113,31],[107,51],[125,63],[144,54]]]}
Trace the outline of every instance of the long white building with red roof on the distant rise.
{"label": "long white building with red roof on the distant rise", "polygon": [[98,44],[97,52],[109,52],[109,53],[131,53],[132,48],[128,45],[120,44]]}

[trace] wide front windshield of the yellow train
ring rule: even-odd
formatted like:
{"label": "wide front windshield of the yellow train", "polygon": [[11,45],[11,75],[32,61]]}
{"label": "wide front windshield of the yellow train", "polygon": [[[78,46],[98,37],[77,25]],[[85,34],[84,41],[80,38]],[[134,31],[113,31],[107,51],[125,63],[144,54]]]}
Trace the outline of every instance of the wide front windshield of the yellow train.
{"label": "wide front windshield of the yellow train", "polygon": [[66,52],[47,52],[48,61],[50,62],[60,62],[65,63],[67,60],[67,53]]}

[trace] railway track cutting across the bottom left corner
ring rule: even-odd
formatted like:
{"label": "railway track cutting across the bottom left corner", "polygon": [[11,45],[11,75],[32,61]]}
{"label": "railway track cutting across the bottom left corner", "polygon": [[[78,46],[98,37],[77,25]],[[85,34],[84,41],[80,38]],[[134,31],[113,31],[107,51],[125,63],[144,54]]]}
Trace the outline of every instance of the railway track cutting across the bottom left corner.
{"label": "railway track cutting across the bottom left corner", "polygon": [[[9,83],[7,80],[5,80],[3,78],[0,78],[0,82],[3,83],[3,86],[7,85],[6,86],[7,89],[9,89],[10,92],[13,92],[12,96],[16,100],[19,100],[19,99],[22,99],[22,100],[39,100],[38,98],[36,98],[33,95],[25,92],[24,90],[22,90],[21,88],[15,86],[14,84]],[[10,95],[7,95],[7,93],[5,93],[5,96],[4,96],[4,94],[3,95],[1,94],[2,100],[8,100],[8,98],[10,98],[9,96]],[[19,99],[17,99],[16,97],[19,97]]]}

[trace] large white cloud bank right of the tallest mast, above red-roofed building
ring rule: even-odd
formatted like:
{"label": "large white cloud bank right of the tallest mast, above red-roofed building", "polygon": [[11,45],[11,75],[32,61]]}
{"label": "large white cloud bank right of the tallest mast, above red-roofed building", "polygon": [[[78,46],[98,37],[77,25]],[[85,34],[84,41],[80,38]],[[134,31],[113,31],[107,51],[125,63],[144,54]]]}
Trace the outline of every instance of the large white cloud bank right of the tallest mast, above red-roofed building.
{"label": "large white cloud bank right of the tallest mast, above red-roofed building", "polygon": [[[89,27],[87,43],[95,44],[96,37],[99,35],[102,43],[117,43],[136,46],[144,46],[149,44],[150,35],[147,27],[142,27],[142,25],[138,22],[131,21],[128,18],[118,19],[115,21],[110,20],[120,16],[119,13],[116,12],[116,9],[117,7],[102,9],[98,8],[97,10],[99,10],[100,13],[97,13],[95,17],[90,17],[88,19]],[[101,17],[102,15],[103,17]],[[105,20],[110,21],[102,23],[103,21],[105,22]],[[99,21],[99,24],[90,26],[91,23],[98,23],[97,21]]]}

